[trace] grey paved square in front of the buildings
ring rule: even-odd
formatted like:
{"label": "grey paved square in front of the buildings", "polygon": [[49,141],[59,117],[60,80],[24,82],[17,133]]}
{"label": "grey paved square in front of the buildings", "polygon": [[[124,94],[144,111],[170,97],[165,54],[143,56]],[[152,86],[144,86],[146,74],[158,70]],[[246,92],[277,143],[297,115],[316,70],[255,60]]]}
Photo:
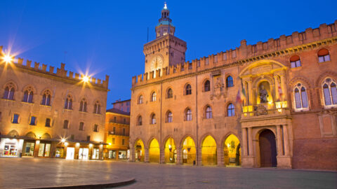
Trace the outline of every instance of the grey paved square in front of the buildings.
{"label": "grey paved square in front of the buildings", "polygon": [[119,188],[337,188],[337,172],[0,158],[0,188],[93,184],[133,177],[136,183]]}

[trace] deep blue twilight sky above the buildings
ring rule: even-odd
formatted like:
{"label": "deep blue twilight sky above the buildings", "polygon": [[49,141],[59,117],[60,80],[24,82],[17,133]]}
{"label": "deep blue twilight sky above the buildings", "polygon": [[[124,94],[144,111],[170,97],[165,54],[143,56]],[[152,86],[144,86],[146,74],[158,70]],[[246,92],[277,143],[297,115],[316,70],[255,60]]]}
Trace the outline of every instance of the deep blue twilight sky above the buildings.
{"label": "deep blue twilight sky above the buildings", "polygon": [[[107,108],[131,97],[131,77],[144,72],[143,44],[154,39],[164,1],[7,1],[0,6],[0,45],[18,57],[70,71],[110,76]],[[337,19],[337,1],[168,0],[186,59],[278,38]],[[65,53],[66,52],[66,53]],[[24,60],[25,61],[25,60]]]}

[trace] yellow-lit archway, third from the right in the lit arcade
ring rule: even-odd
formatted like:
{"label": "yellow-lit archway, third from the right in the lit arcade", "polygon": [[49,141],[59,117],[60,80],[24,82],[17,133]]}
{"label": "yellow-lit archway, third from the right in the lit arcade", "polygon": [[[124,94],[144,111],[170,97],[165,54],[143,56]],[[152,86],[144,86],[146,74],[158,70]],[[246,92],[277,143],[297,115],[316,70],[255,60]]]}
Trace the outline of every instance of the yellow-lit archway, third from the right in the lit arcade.
{"label": "yellow-lit archway, third from the right in the lit arcade", "polygon": [[191,137],[186,137],[183,141],[183,163],[195,165],[197,150],[195,148],[194,140]]}

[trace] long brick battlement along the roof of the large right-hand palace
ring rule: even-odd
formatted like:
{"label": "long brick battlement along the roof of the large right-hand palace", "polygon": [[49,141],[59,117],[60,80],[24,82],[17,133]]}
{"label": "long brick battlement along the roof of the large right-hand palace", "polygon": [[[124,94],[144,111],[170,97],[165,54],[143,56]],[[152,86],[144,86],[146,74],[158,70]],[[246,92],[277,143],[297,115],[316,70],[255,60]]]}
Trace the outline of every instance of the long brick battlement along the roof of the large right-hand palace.
{"label": "long brick battlement along the roof of the large right-hand palace", "polygon": [[[291,50],[291,48],[313,43],[315,41],[322,41],[326,38],[337,36],[337,20],[334,23],[326,25],[322,24],[318,28],[305,29],[303,32],[295,31],[289,36],[279,36],[279,38],[270,38],[268,41],[259,41],[254,45],[247,45],[246,40],[240,42],[240,46],[234,49],[226,50],[225,52],[218,52],[208,57],[200,57],[199,59],[193,59],[192,62],[187,61],[182,64],[176,64],[176,66],[169,66],[157,71],[151,71],[150,73],[140,74],[133,76],[132,87],[138,85],[144,85],[147,83],[154,83],[158,80],[164,80],[166,78],[174,78],[176,76],[183,76],[188,73],[195,73],[197,71],[203,71],[207,69],[213,69],[218,66],[237,64],[237,62],[244,59],[253,59],[255,57],[264,57],[268,53],[275,51],[293,52],[298,50]],[[164,44],[163,44],[164,45]],[[159,47],[158,47],[159,48]],[[145,50],[152,52],[154,49],[151,47]],[[284,54],[284,53],[280,53]],[[246,61],[242,61],[246,62]],[[154,74],[156,76],[154,76]]]}

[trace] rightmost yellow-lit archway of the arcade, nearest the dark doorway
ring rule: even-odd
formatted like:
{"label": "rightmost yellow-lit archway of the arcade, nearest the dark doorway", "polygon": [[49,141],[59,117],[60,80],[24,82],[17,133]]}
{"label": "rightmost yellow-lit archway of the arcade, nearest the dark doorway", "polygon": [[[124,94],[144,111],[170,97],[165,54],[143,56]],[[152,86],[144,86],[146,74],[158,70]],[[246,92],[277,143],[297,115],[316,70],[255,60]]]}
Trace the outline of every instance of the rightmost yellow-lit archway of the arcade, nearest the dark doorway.
{"label": "rightmost yellow-lit archway of the arcade, nearest the dark doorway", "polygon": [[241,165],[240,141],[234,134],[230,134],[223,144],[224,163],[227,166]]}

